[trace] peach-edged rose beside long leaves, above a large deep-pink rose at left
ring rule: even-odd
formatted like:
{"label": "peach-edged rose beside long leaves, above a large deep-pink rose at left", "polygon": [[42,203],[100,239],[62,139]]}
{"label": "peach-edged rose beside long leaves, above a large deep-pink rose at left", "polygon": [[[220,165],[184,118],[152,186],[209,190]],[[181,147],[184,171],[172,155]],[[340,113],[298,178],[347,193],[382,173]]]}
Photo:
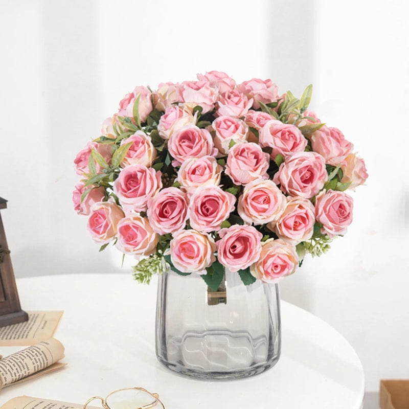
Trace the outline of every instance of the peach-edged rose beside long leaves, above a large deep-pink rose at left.
{"label": "peach-edged rose beside long leaves, above a large deep-pink rose at left", "polygon": [[139,164],[149,168],[156,159],[156,149],[150,137],[143,131],[137,131],[121,141],[121,145],[129,143],[132,145],[129,147],[128,152],[126,152],[121,162],[121,167]]}

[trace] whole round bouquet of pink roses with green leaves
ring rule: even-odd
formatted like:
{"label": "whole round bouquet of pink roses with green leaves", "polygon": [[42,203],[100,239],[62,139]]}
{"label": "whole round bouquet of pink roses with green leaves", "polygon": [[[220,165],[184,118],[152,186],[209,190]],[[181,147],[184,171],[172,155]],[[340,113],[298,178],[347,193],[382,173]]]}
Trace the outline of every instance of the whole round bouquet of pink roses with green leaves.
{"label": "whole round bouquet of pink roses with green leaves", "polygon": [[337,129],[271,80],[137,86],[75,158],[75,210],[101,250],[113,242],[148,282],[169,268],[213,289],[224,268],[245,285],[292,274],[352,222],[345,193],[365,163]]}

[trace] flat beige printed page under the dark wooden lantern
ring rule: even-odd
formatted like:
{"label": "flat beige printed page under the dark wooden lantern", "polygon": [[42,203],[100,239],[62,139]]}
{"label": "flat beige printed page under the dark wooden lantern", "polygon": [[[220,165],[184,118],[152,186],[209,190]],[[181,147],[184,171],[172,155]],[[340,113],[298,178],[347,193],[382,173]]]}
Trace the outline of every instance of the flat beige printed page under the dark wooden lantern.
{"label": "flat beige printed page under the dark wooden lantern", "polygon": [[24,323],[0,328],[0,346],[34,345],[50,339],[57,328],[63,311],[31,311]]}

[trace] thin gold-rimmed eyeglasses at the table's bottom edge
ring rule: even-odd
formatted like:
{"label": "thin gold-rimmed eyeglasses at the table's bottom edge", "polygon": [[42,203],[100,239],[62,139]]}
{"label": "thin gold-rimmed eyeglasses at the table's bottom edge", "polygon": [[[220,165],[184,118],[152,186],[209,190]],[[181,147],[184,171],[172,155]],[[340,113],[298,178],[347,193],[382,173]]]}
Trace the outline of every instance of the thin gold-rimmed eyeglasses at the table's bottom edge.
{"label": "thin gold-rimmed eyeglasses at the table's bottom edge", "polygon": [[144,388],[125,388],[111,392],[106,398],[89,398],[83,409],[95,399],[99,399],[104,409],[165,409],[157,393],[150,393]]}

